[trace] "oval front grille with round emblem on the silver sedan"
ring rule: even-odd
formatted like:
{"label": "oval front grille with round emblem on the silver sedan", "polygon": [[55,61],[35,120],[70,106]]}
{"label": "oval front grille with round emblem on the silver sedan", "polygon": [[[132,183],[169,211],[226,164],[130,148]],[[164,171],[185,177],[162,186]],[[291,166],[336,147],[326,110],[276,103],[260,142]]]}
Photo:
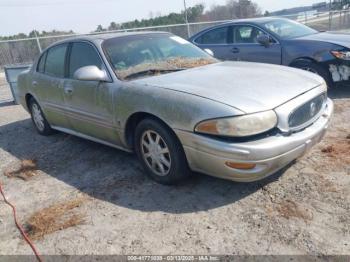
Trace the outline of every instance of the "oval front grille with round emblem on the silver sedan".
{"label": "oval front grille with round emblem on the silver sedan", "polygon": [[323,108],[324,103],[327,100],[327,95],[322,94],[320,96],[315,97],[309,102],[305,103],[301,107],[297,108],[290,116],[289,116],[289,127],[296,128],[302,126],[315,118]]}

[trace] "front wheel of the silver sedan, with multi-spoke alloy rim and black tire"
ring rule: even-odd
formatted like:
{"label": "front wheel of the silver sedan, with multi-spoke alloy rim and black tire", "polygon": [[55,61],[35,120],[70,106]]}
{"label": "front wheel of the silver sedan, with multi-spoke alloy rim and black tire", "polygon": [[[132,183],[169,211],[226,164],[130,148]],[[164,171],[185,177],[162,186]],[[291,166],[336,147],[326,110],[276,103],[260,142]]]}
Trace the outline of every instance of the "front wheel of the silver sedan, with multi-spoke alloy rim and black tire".
{"label": "front wheel of the silver sedan, with multi-spoke alloy rim and black tire", "polygon": [[164,124],[153,119],[141,121],[134,141],[139,160],[158,183],[173,185],[190,176],[182,145]]}

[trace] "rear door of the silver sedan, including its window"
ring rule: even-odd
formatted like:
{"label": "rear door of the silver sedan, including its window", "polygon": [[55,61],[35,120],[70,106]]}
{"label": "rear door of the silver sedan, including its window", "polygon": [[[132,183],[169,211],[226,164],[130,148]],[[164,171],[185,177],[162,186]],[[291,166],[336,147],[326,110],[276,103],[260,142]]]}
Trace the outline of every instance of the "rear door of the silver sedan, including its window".
{"label": "rear door of the silver sedan, including its window", "polygon": [[63,81],[68,44],[51,47],[40,57],[32,80],[33,93],[53,126],[69,127],[63,100]]}

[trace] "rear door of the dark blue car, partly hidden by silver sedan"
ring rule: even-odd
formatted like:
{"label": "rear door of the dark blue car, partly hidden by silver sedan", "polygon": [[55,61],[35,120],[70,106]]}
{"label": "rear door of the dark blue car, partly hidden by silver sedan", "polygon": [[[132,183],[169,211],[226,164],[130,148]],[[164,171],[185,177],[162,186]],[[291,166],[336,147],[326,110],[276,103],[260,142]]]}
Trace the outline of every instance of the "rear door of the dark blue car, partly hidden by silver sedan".
{"label": "rear door of the dark blue car, partly hidden by silver sedan", "polygon": [[194,39],[194,43],[201,49],[210,49],[220,60],[232,60],[232,46],[228,41],[232,38],[230,28],[225,25],[211,29]]}

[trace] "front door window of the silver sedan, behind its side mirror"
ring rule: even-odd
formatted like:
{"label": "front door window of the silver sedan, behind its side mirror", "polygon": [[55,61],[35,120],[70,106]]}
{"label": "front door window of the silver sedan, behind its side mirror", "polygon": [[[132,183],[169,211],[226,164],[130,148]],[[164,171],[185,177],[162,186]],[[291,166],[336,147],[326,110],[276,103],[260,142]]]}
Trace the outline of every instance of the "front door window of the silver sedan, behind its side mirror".
{"label": "front door window of the silver sedan, behind its side mirror", "polygon": [[69,78],[84,66],[97,66],[103,69],[103,62],[96,49],[89,43],[73,43],[69,60]]}

